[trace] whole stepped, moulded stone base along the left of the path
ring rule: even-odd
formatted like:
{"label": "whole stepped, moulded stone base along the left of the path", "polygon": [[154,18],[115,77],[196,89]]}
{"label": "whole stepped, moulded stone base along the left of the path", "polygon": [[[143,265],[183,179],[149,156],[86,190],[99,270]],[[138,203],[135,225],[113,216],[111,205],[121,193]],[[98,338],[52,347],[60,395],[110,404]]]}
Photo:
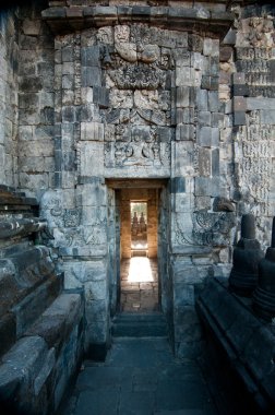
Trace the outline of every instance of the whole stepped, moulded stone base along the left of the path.
{"label": "whole stepped, moulded stone base along the left of the path", "polygon": [[0,218],[0,256],[5,258],[0,261],[1,408],[4,414],[46,414],[58,408],[80,365],[83,296],[61,294],[63,277],[55,272],[49,249],[34,245],[38,232],[47,227],[46,221],[34,217],[36,200],[2,186],[1,208],[3,203],[8,205]]}

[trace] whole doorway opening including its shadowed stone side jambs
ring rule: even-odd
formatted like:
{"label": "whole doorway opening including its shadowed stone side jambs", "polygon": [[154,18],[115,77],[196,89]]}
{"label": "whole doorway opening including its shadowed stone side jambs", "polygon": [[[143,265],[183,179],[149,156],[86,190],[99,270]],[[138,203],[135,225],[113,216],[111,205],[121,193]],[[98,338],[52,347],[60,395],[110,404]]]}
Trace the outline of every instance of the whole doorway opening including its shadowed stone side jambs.
{"label": "whole doorway opening including its shadowed stone side jambs", "polygon": [[166,237],[163,212],[167,180],[108,179],[107,182],[109,241],[115,247],[113,251],[109,248],[111,315],[164,311],[166,257],[163,246],[167,248],[167,244],[163,242]]}

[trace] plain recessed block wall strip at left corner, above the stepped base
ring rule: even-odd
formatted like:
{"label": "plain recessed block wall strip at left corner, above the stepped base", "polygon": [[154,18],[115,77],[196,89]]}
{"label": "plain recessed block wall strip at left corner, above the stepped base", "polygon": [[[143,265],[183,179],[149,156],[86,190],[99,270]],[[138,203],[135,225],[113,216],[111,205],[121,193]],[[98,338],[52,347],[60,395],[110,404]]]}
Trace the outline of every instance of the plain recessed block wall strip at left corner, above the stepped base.
{"label": "plain recessed block wall strip at left corner, above the stepped base", "polygon": [[45,1],[19,8],[19,186],[40,199],[52,188],[55,158],[55,42],[41,21]]}

